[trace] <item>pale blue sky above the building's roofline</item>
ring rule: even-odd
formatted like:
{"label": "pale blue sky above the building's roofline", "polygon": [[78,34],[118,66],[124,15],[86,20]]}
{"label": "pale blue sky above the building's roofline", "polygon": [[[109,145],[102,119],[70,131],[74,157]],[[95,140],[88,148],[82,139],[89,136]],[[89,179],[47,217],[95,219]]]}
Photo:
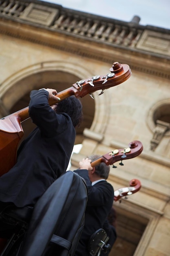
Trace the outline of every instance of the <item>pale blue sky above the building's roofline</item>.
{"label": "pale blue sky above the building's roofline", "polygon": [[62,7],[130,22],[170,29],[170,0],[44,0]]}

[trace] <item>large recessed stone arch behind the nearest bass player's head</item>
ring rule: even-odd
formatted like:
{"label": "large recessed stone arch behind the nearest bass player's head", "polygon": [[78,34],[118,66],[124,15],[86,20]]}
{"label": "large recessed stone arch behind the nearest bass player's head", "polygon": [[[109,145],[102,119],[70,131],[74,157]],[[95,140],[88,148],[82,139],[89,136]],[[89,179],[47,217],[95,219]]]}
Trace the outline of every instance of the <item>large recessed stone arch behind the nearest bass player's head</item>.
{"label": "large recessed stone arch behind the nearest bass player's head", "polygon": [[[83,65],[77,65],[77,63],[64,61],[37,63],[16,72],[5,80],[0,87],[0,97],[3,107],[9,113],[13,113],[28,106],[31,90],[55,88],[60,92],[71,87],[76,81],[91,78],[91,76],[90,70],[84,68]],[[108,116],[105,106],[108,101],[105,99],[105,94],[99,98],[98,92],[95,92],[94,95],[94,100],[88,95],[80,99],[83,105],[84,121],[78,134],[82,134],[84,128],[91,128],[95,132],[104,132]],[[100,112],[101,106],[104,106],[102,112]],[[26,122],[29,121],[24,123]],[[96,126],[95,123],[98,125]],[[31,124],[25,124],[26,134],[29,133],[29,126]],[[81,139],[78,139],[77,143],[81,143]]]}

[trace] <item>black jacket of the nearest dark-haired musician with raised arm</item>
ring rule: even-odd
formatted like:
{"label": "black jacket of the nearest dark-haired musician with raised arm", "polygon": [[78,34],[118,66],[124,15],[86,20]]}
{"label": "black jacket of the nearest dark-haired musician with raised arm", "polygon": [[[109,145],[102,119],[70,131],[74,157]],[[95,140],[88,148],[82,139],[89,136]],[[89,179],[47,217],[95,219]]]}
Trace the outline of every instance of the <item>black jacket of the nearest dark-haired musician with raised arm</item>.
{"label": "black jacket of the nearest dark-haired musician with raised arm", "polygon": [[30,94],[29,116],[37,127],[22,142],[17,162],[0,177],[0,201],[17,207],[35,204],[46,189],[66,171],[75,142],[71,118],[56,114],[46,90]]}

